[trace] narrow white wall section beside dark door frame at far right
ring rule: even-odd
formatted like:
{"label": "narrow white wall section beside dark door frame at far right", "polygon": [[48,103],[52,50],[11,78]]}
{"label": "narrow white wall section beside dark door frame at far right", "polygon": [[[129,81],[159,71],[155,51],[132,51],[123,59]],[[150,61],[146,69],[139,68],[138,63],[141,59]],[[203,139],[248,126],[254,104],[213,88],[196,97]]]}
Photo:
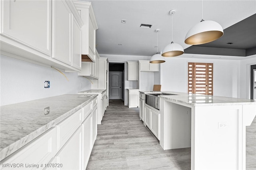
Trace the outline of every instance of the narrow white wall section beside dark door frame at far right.
{"label": "narrow white wall section beside dark door frame at far right", "polygon": [[240,98],[250,99],[250,65],[256,64],[256,55],[240,61]]}

